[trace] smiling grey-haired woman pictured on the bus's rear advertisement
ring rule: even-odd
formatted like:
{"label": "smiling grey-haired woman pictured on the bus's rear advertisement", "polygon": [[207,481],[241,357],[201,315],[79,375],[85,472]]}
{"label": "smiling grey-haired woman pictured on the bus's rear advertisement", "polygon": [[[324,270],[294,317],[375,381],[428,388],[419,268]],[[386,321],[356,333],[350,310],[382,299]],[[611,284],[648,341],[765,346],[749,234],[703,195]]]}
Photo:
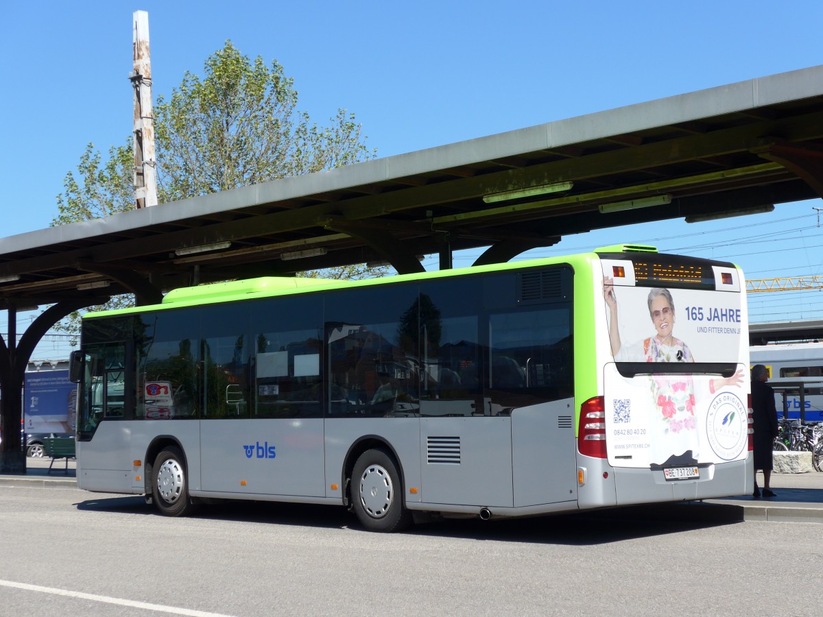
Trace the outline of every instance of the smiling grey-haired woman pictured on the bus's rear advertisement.
{"label": "smiling grey-haired woman pictured on the bus's rear advertisement", "polygon": [[[689,346],[674,336],[675,304],[672,294],[664,288],[649,290],[649,318],[655,333],[637,343],[623,345],[617,325],[617,299],[613,280],[603,280],[603,296],[609,309],[609,341],[616,362],[695,362]],[[657,418],[662,422],[664,439],[654,448],[657,464],[694,464],[697,462],[700,439],[695,421],[695,383],[688,373],[652,374],[651,390]],[[724,386],[739,386],[742,370],[728,378],[709,380],[709,392],[714,394]],[[666,458],[668,457],[668,458]]]}

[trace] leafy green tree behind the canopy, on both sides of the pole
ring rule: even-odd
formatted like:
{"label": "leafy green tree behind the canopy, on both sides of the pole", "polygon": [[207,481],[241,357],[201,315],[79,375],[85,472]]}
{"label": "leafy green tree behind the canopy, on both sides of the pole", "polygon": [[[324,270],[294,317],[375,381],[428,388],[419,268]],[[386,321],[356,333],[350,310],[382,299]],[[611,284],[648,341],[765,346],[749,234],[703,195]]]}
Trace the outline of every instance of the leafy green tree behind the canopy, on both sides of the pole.
{"label": "leafy green tree behind the canopy, on both sides of the pole", "polygon": [[[155,133],[160,203],[198,197],[374,158],[355,114],[338,109],[328,127],[297,109],[294,80],[277,60],[249,59],[226,41],[207,58],[202,79],[186,72],[169,100],[157,98]],[[131,137],[102,160],[93,144],[63,180],[52,225],[91,220],[133,209]],[[164,206],[156,206],[164,207]],[[308,276],[362,278],[386,269],[332,268]],[[117,306],[133,302],[113,299]],[[114,308],[109,304],[106,308]],[[79,332],[79,313],[59,324]]]}

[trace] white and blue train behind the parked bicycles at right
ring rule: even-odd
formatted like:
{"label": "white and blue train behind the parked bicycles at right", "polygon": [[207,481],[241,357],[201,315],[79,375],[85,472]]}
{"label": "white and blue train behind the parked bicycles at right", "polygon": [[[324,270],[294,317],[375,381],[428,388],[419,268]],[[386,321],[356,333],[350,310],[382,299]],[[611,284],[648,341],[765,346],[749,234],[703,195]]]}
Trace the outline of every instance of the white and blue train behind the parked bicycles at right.
{"label": "white and blue train behind the parked bicycles at right", "polygon": [[[779,415],[791,420],[823,422],[823,343],[752,346],[749,354],[751,364],[765,364],[769,369],[769,382],[775,389],[774,403]],[[798,392],[801,383],[802,406]]]}

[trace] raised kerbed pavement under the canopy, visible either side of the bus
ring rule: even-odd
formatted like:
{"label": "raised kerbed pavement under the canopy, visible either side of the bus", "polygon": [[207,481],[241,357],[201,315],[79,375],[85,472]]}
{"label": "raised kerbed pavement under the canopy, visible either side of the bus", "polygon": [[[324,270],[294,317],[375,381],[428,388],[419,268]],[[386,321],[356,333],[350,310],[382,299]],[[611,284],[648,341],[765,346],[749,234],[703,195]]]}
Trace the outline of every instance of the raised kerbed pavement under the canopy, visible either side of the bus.
{"label": "raised kerbed pavement under the canopy, visible either side of the bus", "polygon": [[[50,466],[50,468],[49,468]],[[27,458],[26,473],[0,475],[0,486],[40,486],[74,488],[77,463],[74,460]],[[758,474],[758,485],[763,476]],[[663,504],[663,508],[683,517],[724,518],[738,521],[818,522],[823,524],[823,472],[773,473],[771,488],[777,497],[754,499],[751,495],[700,502]]]}

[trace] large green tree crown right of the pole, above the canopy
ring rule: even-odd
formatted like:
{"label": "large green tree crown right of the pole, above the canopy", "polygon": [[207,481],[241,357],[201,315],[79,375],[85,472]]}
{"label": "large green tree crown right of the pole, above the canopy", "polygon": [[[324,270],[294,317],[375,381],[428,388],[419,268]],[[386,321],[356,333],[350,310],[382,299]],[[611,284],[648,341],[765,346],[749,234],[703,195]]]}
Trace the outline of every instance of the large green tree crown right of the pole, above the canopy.
{"label": "large green tree crown right of the pole, above the canopy", "polygon": [[230,41],[202,79],[186,72],[156,108],[161,202],[350,165],[374,156],[355,115],[338,109],[320,128],[297,110],[294,80],[277,60],[241,55]]}

